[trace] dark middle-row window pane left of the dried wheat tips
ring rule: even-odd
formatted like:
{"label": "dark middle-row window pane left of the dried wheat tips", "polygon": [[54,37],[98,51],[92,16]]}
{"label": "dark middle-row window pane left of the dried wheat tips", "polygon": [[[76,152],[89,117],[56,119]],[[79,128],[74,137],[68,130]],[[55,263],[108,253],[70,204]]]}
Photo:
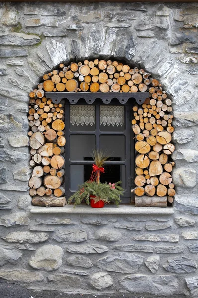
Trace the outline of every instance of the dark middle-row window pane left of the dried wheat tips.
{"label": "dark middle-row window pane left of the dried wheat tips", "polygon": [[95,144],[94,135],[71,135],[70,159],[85,160],[85,157],[91,157]]}

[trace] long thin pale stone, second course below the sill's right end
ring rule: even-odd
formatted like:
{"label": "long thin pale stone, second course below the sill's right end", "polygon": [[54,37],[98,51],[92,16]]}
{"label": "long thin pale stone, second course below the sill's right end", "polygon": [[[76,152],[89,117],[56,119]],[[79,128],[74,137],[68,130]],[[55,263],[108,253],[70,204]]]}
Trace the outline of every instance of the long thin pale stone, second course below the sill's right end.
{"label": "long thin pale stone, second course below the sill's right end", "polygon": [[152,241],[152,242],[178,242],[179,236],[176,234],[150,234],[150,235],[141,235],[141,236],[133,236],[132,240],[138,241]]}

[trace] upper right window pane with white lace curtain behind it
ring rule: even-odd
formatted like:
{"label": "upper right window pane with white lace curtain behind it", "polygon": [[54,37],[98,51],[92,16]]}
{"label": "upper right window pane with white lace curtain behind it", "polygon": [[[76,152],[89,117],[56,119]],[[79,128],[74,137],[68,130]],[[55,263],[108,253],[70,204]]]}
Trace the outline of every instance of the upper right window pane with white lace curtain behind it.
{"label": "upper right window pane with white lace curtain behind it", "polygon": [[100,106],[100,130],[124,131],[124,106]]}

